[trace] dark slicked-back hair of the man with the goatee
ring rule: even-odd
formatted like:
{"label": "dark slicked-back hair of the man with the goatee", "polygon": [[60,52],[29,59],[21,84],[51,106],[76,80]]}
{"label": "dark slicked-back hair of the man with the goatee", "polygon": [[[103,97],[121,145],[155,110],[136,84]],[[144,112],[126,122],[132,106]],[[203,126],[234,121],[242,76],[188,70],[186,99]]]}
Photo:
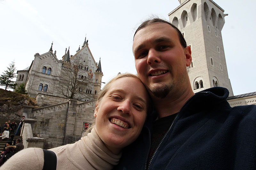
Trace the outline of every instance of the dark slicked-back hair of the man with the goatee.
{"label": "dark slicked-back hair of the man with the goatee", "polygon": [[[172,23],[170,23],[169,21],[164,20],[164,19],[160,19],[160,18],[148,19],[148,20],[142,22],[142,23],[140,24],[140,26],[137,28],[137,30],[135,31],[134,36],[135,36],[135,34],[136,34],[139,30],[141,30],[142,28],[145,28],[146,26],[149,26],[149,25],[151,25],[151,24],[153,24],[153,23],[155,23],[155,22],[163,22],[163,23],[166,23],[166,24],[169,24],[170,26],[172,26],[172,27],[177,31],[177,33],[178,33],[181,46],[182,46],[183,48],[186,48],[186,47],[187,47],[187,42],[185,41],[185,39],[184,39],[182,33],[180,32],[180,30],[179,30],[176,26],[174,26]],[[134,36],[133,36],[133,40],[134,40]]]}

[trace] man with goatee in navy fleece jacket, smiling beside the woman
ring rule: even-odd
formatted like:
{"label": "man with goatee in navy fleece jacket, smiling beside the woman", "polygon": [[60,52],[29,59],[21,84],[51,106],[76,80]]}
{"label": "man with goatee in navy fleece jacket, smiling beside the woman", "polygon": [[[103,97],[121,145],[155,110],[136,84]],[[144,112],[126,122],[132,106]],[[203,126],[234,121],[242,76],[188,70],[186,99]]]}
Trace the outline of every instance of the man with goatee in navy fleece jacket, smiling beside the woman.
{"label": "man with goatee in navy fleece jacket, smiling beside the woman", "polygon": [[186,69],[191,50],[175,26],[143,22],[132,50],[157,114],[148,116],[116,169],[256,168],[255,106],[230,107],[222,87],[194,94]]}

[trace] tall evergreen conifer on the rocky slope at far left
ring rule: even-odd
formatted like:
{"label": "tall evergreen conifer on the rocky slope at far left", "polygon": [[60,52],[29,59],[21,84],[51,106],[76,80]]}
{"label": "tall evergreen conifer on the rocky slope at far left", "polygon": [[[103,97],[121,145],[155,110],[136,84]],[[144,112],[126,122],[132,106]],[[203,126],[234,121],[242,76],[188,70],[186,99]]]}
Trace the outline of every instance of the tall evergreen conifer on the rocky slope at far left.
{"label": "tall evergreen conifer on the rocky slope at far left", "polygon": [[14,62],[9,64],[9,67],[7,67],[7,70],[4,70],[2,75],[0,76],[0,85],[5,86],[5,90],[8,88],[14,89],[16,86],[16,83],[12,81],[12,78],[16,78],[15,76],[15,64]]}

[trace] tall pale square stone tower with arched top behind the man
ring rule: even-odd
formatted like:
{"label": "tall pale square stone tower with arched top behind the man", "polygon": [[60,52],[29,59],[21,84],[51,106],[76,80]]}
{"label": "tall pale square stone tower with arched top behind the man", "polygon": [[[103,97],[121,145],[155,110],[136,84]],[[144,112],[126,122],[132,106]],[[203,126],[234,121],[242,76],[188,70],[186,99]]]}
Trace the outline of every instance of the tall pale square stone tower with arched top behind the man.
{"label": "tall pale square stone tower with arched top behind the man", "polygon": [[189,79],[194,92],[221,86],[233,96],[223,48],[221,30],[224,10],[212,0],[179,0],[180,6],[168,14],[191,47]]}

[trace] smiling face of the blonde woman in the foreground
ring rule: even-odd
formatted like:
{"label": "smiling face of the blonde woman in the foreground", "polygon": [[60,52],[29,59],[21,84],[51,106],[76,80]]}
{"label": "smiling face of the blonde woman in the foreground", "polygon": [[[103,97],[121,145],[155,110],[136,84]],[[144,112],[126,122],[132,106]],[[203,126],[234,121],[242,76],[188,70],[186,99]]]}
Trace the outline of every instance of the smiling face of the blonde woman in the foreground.
{"label": "smiling face of the blonde woman in the foreground", "polygon": [[148,93],[140,80],[120,78],[96,105],[95,129],[113,153],[131,144],[140,134],[147,115]]}

